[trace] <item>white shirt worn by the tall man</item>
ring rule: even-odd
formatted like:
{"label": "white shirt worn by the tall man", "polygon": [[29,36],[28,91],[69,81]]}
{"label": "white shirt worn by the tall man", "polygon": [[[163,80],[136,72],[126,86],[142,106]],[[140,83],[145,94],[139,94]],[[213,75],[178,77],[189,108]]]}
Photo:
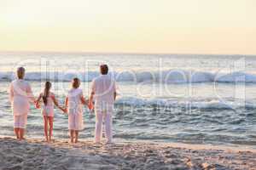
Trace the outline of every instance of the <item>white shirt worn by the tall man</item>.
{"label": "white shirt worn by the tall man", "polygon": [[91,91],[95,93],[96,105],[102,105],[102,103],[113,105],[116,82],[109,75],[101,75],[93,80]]}

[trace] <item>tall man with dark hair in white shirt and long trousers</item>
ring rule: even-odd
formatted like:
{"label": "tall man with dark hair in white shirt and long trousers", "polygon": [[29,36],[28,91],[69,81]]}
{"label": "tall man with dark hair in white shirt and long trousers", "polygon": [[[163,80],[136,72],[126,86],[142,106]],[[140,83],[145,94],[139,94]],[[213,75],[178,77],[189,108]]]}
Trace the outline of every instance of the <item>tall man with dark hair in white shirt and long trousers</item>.
{"label": "tall man with dark hair in white shirt and long trousers", "polygon": [[96,129],[95,142],[102,139],[102,121],[105,122],[105,137],[107,143],[112,143],[112,113],[113,103],[116,99],[116,85],[113,77],[108,75],[108,65],[100,66],[101,76],[92,82],[90,105],[95,99]]}

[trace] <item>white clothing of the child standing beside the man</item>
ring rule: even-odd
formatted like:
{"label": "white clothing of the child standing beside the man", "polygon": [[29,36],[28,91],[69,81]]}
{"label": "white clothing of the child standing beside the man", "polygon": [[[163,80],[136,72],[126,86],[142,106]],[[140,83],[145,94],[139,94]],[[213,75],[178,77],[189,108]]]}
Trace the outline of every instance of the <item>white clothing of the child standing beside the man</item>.
{"label": "white clothing of the child standing beside the man", "polygon": [[67,94],[68,129],[82,130],[84,128],[83,104],[81,98],[83,91],[80,88],[72,88]]}

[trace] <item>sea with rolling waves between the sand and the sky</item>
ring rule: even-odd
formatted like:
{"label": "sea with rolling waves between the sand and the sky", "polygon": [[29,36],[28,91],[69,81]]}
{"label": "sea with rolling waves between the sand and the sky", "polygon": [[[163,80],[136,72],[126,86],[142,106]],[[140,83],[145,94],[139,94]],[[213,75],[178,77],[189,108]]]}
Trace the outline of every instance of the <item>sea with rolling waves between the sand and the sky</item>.
{"label": "sea with rolling waves between the sand and the sky", "polygon": [[[26,68],[37,97],[44,82],[61,105],[79,77],[84,96],[99,65],[117,82],[116,141],[229,145],[256,149],[256,56],[212,54],[0,53],[0,135],[14,136],[9,83]],[[93,138],[95,115],[84,107],[81,139]],[[104,133],[104,129],[103,129]],[[44,139],[43,117],[31,106],[26,138]],[[55,109],[54,138],[68,139],[67,115]]]}

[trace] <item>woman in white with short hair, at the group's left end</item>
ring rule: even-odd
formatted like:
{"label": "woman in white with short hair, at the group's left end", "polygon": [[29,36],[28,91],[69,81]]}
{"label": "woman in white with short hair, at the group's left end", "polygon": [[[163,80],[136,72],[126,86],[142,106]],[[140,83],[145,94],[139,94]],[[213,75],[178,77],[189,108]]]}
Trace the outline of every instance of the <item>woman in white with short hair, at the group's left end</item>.
{"label": "woman in white with short hair, at the group's left end", "polygon": [[17,69],[17,79],[10,84],[9,97],[14,114],[14,128],[17,139],[24,139],[24,131],[26,128],[27,114],[30,109],[30,102],[35,103],[32,95],[32,89],[28,82],[23,80],[25,77],[25,69],[19,67]]}

